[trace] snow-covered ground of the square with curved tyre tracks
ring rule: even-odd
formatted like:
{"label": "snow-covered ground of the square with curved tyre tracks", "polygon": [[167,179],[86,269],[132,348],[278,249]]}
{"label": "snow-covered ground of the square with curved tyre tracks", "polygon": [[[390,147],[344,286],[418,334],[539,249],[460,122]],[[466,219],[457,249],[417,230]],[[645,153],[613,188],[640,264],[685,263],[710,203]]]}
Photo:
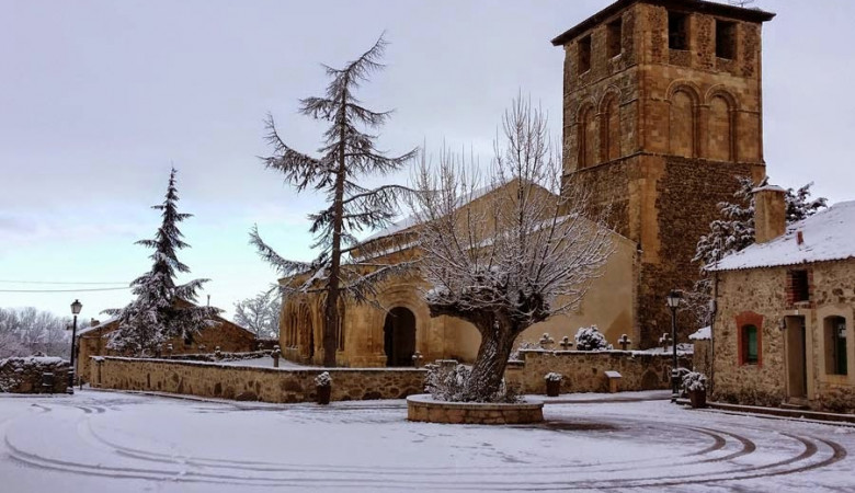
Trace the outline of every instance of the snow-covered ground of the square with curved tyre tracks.
{"label": "snow-covered ground of the square with curved tyre tracks", "polygon": [[548,404],[543,425],[497,427],[410,423],[403,401],[317,406],[98,391],[4,395],[0,491],[855,488],[855,459],[847,456],[855,451],[853,427],[588,397]]}

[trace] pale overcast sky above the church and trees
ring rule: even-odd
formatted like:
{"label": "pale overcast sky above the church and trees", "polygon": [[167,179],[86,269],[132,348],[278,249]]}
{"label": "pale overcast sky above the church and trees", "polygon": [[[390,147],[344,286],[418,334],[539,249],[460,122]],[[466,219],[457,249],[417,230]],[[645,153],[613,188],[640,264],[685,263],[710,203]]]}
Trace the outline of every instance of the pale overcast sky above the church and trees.
{"label": "pale overcast sky above the church and trees", "polygon": [[[133,242],[159,226],[148,207],[174,164],[180,209],[195,215],[180,259],[192,277],[212,279],[202,300],[230,314],[276,277],[247,244],[253,223],[280,253],[312,256],[306,215],[321,203],[295,195],[256,157],[269,151],[266,112],[293,147],[319,146],[322,126],[296,113],[327,83],[319,64],[341,66],[386,31],[388,68],[361,92],[371,107],[396,108],[381,148],[445,140],[488,160],[520,90],[560,135],[563,53],[549,39],[608,3],[0,0],[0,307],[67,314],[79,298],[81,316],[98,318],[125,305],[127,290],[77,283],[127,283],[148,270],[149,252]],[[855,2],[755,5],[778,14],[763,36],[772,181],[855,198]]]}

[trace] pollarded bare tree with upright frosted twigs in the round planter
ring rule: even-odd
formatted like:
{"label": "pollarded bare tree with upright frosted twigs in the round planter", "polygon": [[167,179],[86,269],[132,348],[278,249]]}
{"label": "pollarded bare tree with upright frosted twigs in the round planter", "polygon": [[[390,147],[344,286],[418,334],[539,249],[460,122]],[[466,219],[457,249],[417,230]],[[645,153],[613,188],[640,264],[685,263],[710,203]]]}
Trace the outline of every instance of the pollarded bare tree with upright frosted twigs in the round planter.
{"label": "pollarded bare tree with upright frosted twigs in the round planter", "polygon": [[516,336],[577,308],[613,250],[604,216],[583,214],[585,191],[560,185],[561,160],[543,112],[516,99],[502,130],[486,188],[446,150],[438,167],[422,159],[415,177],[431,316],[466,320],[481,335],[466,401],[502,399]]}

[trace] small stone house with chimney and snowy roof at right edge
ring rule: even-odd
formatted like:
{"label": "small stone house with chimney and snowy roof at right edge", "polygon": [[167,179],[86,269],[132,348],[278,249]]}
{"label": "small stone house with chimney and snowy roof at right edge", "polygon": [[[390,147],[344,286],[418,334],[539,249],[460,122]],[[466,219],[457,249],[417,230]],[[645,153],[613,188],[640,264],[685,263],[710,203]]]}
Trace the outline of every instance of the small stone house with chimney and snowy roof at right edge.
{"label": "small stone house with chimney and snowy roof at right edge", "polygon": [[714,398],[855,412],[855,200],[785,230],[784,191],[756,191],[757,243],[718,278]]}

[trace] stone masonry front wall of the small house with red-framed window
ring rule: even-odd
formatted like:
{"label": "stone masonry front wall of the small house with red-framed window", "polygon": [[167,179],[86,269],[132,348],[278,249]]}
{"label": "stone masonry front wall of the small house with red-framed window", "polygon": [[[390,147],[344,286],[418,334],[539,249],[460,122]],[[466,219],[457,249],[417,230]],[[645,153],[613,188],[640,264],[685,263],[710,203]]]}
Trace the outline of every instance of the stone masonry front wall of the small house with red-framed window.
{"label": "stone masonry front wall of the small house with red-framed window", "polygon": [[[790,268],[807,270],[810,300],[794,303],[787,297]],[[720,273],[715,340],[714,399],[742,404],[777,406],[788,399],[787,334],[782,322],[805,319],[807,399],[823,411],[855,412],[855,261],[821,262]],[[848,375],[827,370],[824,320],[846,319]],[[760,363],[741,364],[739,321],[760,329]]]}

